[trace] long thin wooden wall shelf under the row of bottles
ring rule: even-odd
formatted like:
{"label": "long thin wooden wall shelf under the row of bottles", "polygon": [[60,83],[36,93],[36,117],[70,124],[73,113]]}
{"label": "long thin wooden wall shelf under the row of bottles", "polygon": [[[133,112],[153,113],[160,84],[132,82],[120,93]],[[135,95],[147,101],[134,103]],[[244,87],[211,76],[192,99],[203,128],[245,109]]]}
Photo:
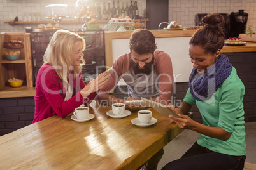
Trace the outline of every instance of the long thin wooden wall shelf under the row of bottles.
{"label": "long thin wooden wall shelf under the row of bottles", "polygon": [[[108,23],[109,20],[97,20],[97,23]],[[148,22],[149,19],[139,19],[139,20],[134,20],[134,22]],[[5,24],[10,24],[10,25],[29,25],[29,24],[47,24],[47,23],[55,23],[53,20],[43,20],[43,21],[38,21],[38,22],[4,22]],[[60,24],[74,24],[74,23],[84,23],[82,20],[62,20]]]}

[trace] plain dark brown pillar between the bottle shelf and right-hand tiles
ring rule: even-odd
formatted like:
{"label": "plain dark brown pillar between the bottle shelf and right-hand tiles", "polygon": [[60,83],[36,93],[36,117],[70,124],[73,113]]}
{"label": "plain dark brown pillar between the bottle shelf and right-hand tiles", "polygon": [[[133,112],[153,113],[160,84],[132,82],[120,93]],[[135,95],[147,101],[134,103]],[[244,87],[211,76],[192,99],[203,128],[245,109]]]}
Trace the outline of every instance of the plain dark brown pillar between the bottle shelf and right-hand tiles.
{"label": "plain dark brown pillar between the bottle shelf and right-hand tiles", "polygon": [[168,22],[168,6],[168,0],[146,0],[146,16],[150,18],[150,21],[146,22],[146,29],[158,29],[161,22]]}

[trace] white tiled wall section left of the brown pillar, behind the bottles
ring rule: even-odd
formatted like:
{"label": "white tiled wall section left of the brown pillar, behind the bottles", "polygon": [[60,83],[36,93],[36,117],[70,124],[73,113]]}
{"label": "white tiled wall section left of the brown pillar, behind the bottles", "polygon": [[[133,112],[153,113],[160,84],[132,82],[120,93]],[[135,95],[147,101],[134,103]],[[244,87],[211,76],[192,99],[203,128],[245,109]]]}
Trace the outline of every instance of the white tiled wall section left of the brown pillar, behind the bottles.
{"label": "white tiled wall section left of the brown pillar, behind the bottles", "polygon": [[[96,3],[101,4],[101,10],[103,10],[103,2],[112,2],[113,0],[95,0]],[[126,3],[130,5],[129,0],[120,0],[120,6],[124,2],[124,6]],[[133,0],[134,2],[134,0]],[[26,26],[32,26],[36,29],[37,25],[8,25],[4,24],[7,20],[13,20],[15,16],[18,16],[18,20],[22,21],[25,16],[30,16],[31,13],[39,13],[41,15],[41,20],[44,20],[45,16],[45,6],[49,4],[68,4],[69,7],[69,15],[76,14],[75,4],[76,0],[0,0],[0,32],[25,32]],[[137,2],[139,15],[142,15],[143,9],[146,8],[146,0],[141,0]],[[115,6],[117,6],[117,0],[115,0]],[[28,17],[26,17],[28,18]],[[38,18],[38,15],[36,15]],[[61,22],[60,22],[61,23]],[[82,27],[80,25],[64,25],[66,29],[76,29]],[[104,26],[104,25],[103,25]]]}

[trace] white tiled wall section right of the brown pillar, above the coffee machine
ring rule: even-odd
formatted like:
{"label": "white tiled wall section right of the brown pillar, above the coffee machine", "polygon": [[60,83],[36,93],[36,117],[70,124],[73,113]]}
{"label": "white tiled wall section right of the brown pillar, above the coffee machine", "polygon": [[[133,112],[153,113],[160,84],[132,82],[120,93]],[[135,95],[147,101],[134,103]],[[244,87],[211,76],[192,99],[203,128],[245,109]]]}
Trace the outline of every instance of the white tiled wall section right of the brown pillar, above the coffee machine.
{"label": "white tiled wall section right of the brown pillar, above the coffee machine", "polygon": [[245,10],[248,13],[247,25],[256,32],[255,0],[169,0],[169,22],[176,20],[184,27],[195,26],[197,13],[227,13]]}

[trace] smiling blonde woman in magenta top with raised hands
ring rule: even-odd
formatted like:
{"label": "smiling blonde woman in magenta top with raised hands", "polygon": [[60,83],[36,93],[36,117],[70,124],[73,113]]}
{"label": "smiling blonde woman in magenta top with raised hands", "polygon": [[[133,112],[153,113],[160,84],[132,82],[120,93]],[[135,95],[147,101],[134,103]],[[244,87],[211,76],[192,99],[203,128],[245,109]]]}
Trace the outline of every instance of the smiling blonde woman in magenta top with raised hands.
{"label": "smiling blonde woman in magenta top with raised hands", "polygon": [[109,75],[100,74],[85,86],[81,70],[85,64],[85,40],[68,30],[58,30],[48,44],[44,64],[36,77],[34,121],[53,115],[66,117],[82,103],[89,104],[97,95]]}

